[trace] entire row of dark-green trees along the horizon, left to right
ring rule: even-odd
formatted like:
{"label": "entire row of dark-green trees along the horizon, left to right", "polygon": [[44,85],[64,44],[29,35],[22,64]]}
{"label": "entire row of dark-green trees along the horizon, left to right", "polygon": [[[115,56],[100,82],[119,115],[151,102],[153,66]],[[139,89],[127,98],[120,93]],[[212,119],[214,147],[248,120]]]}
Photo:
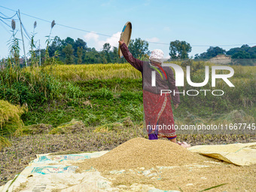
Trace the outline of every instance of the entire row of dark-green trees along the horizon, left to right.
{"label": "entire row of dark-green trees along the horizon, left to right", "polygon": [[[150,55],[148,41],[141,38],[132,39],[129,50],[138,59],[146,59]],[[192,47],[186,41],[171,41],[169,44],[169,56],[171,59],[211,59],[219,54],[230,56],[232,59],[256,59],[256,46],[249,47],[247,44],[242,47],[234,47],[224,50],[221,47],[209,47],[204,53],[189,56]],[[45,49],[41,50],[42,62],[45,58]],[[103,44],[102,50],[98,51],[94,47],[88,47],[83,39],[73,38],[61,39],[58,36],[53,38],[48,47],[49,56],[56,56],[59,64],[93,64],[93,63],[123,63],[125,59],[119,58],[118,47],[111,47],[110,44]],[[39,50],[35,50],[39,55]],[[247,63],[247,62],[246,62]],[[253,65],[252,64],[242,65]]]}

